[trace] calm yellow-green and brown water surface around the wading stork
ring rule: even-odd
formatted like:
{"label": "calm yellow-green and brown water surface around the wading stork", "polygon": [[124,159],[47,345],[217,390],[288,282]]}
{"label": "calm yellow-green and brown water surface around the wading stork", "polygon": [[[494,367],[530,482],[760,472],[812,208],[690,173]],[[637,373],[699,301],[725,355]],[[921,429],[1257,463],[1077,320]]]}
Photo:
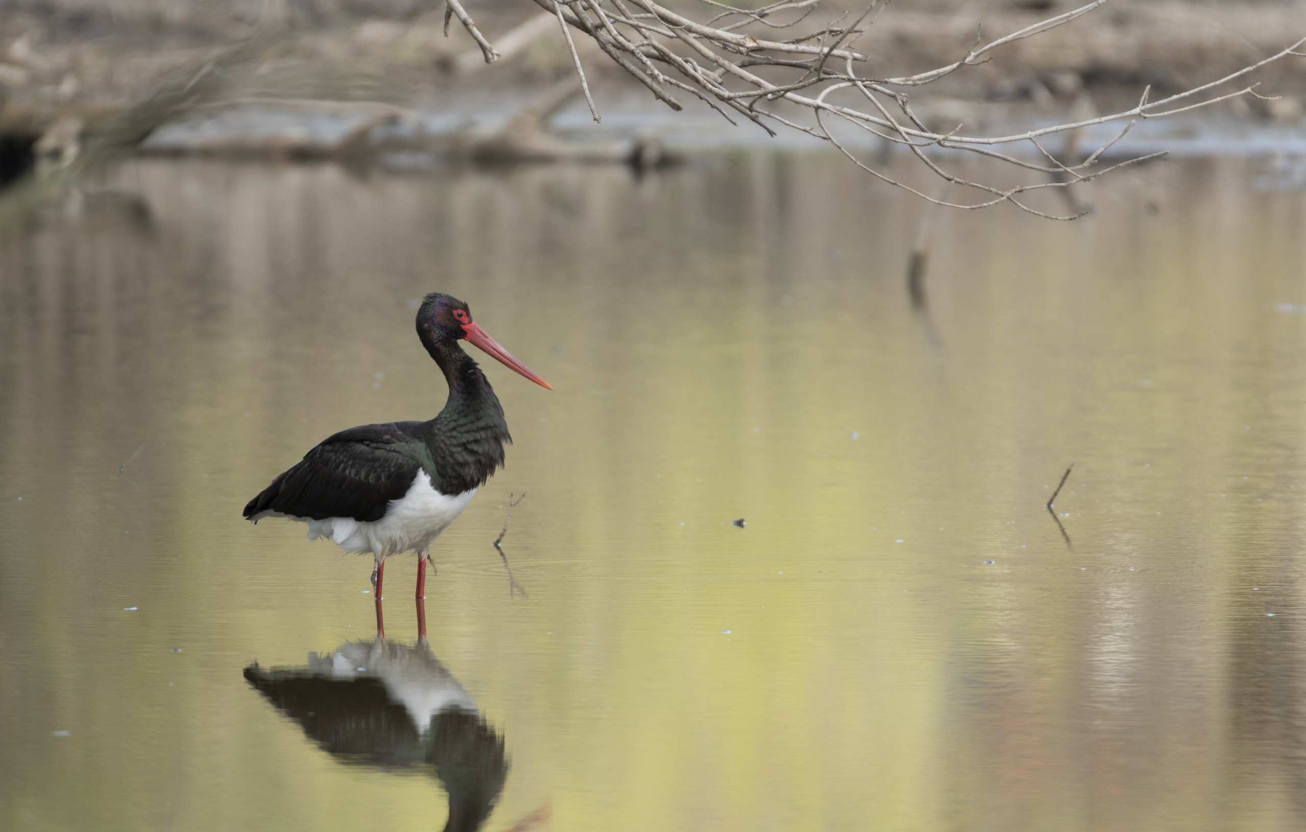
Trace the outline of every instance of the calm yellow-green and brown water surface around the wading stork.
{"label": "calm yellow-green and brown water surface around the wading stork", "polygon": [[[0,827],[1306,827],[1275,183],[939,214],[919,312],[922,205],[825,155],[127,167],[0,243]],[[556,389],[486,362],[508,468],[374,644],[370,559],[240,508],[439,410],[434,290]]]}

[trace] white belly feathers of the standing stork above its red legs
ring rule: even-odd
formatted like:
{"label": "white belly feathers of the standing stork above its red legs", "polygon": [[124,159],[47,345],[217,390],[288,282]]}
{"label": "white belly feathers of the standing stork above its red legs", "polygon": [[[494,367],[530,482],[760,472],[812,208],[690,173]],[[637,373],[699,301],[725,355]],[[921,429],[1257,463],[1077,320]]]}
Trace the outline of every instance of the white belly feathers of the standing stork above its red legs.
{"label": "white belly feathers of the standing stork above its red legs", "polygon": [[[380,520],[359,521],[353,517],[304,520],[308,539],[325,537],[345,551],[372,552],[389,558],[401,551],[426,551],[435,538],[449,528],[471,502],[475,488],[462,494],[440,494],[431,486],[431,477],[419,470],[407,494],[390,500]],[[303,520],[291,517],[291,520]]]}

